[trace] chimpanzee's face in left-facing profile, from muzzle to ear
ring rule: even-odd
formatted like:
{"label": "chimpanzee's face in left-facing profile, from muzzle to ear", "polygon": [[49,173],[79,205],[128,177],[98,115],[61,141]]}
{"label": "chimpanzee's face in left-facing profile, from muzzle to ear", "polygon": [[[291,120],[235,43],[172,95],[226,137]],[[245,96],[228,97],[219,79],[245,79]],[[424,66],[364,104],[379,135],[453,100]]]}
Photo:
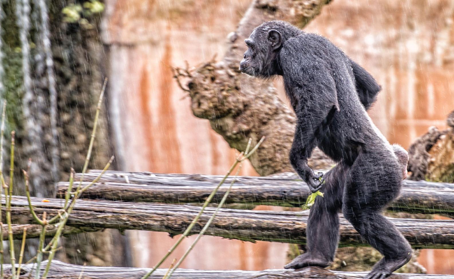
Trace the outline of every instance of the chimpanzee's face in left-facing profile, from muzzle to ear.
{"label": "chimpanzee's face in left-facing profile, from muzzle to ear", "polygon": [[254,77],[270,77],[276,72],[276,57],[281,47],[281,34],[271,29],[254,29],[244,41],[247,51],[240,62],[240,71]]}

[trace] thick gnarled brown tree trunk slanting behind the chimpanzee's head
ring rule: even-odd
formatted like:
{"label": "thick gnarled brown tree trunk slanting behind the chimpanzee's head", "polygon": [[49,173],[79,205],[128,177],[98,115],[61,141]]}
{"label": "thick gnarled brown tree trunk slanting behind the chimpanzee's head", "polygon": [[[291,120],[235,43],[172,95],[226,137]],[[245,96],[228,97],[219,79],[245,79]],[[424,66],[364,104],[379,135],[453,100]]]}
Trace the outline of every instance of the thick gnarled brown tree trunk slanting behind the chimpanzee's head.
{"label": "thick gnarled brown tree trunk slanting behind the chimpanzee's head", "polygon": [[[261,175],[292,170],[288,160],[295,115],[276,94],[272,81],[250,78],[238,71],[246,50],[244,39],[263,21],[285,19],[304,27],[321,12],[329,0],[254,0],[228,38],[229,48],[222,61],[209,62],[190,73],[188,82],[192,112],[210,120],[231,147],[244,151],[247,141],[266,141],[251,157]],[[180,78],[177,74],[177,78]],[[311,166],[327,167],[330,162],[318,149]]]}

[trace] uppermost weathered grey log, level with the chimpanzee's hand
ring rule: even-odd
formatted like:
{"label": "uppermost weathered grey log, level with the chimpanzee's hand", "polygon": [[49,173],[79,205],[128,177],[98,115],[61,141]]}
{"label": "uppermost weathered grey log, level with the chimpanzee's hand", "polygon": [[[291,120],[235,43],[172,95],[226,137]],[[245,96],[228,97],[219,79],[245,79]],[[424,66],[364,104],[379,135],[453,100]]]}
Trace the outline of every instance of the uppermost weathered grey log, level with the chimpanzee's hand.
{"label": "uppermost weathered grey log, level with the chimpanzee's hand", "polygon": [[[92,181],[98,170],[85,174]],[[222,176],[200,174],[161,174],[109,171],[83,197],[123,202],[199,203],[204,202]],[[219,189],[213,202],[220,201],[231,178]],[[86,185],[87,183],[84,183]],[[68,183],[59,183],[62,196]],[[227,203],[299,207],[310,194],[306,183],[295,175],[281,177],[238,177]],[[454,183],[404,180],[400,197],[390,207],[393,211],[437,213],[454,217]]]}

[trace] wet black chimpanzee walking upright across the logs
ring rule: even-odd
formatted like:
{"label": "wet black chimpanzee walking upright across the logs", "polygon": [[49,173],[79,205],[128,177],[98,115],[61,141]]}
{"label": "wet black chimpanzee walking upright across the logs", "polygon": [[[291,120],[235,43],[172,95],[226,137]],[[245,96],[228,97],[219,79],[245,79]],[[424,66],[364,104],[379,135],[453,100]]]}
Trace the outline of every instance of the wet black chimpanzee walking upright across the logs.
{"label": "wet black chimpanzee walking upright across the logs", "polygon": [[[306,253],[285,268],[327,267],[332,262],[341,211],[384,255],[365,279],[388,277],[410,260],[412,250],[381,214],[399,194],[408,155],[389,144],[366,112],[380,86],[328,39],[284,21],[263,23],[245,42],[240,70],[255,77],[283,77],[297,118],[291,164],[312,192],[325,193],[310,211]],[[337,162],[324,177],[307,165],[315,146]]]}

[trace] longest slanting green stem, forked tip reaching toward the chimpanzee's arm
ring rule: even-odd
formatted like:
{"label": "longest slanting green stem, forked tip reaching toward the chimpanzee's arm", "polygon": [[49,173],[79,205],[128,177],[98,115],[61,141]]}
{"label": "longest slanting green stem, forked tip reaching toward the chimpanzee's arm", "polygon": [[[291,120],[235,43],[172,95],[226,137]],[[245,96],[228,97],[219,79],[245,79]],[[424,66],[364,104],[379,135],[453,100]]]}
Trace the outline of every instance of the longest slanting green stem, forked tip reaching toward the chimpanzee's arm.
{"label": "longest slanting green stem, forked tip reaching toward the chimpanzee's arm", "polygon": [[[247,159],[251,156],[251,154],[253,152],[255,152],[257,150],[257,148],[260,146],[260,144],[262,144],[263,140],[265,140],[265,137],[262,137],[262,139],[260,139],[260,141],[257,143],[257,145],[251,150],[250,153],[248,153],[247,155],[245,155],[243,157],[243,159]],[[240,154],[241,156],[242,154]],[[213,189],[213,191],[211,192],[211,194],[207,197],[207,199],[205,200],[205,203],[203,203],[202,205],[202,208],[200,209],[200,211],[198,212],[197,216],[194,217],[194,219],[192,220],[192,222],[189,224],[189,226],[186,228],[186,230],[183,232],[183,235],[178,239],[177,242],[175,242],[175,244],[173,244],[173,246],[167,251],[167,253],[163,256],[163,258],[161,260],[159,260],[159,262],[153,266],[153,269],[151,269],[150,271],[148,271],[147,274],[143,275],[143,277],[141,279],[147,279],[156,269],[158,269],[158,267],[160,265],[162,265],[162,263],[167,260],[167,258],[173,253],[173,251],[178,247],[178,245],[180,245],[180,243],[183,241],[183,239],[185,237],[187,237],[189,235],[189,232],[192,230],[192,227],[194,227],[194,225],[196,224],[196,222],[198,221],[198,219],[200,218],[200,216],[202,216],[202,213],[203,211],[205,210],[205,208],[208,206],[208,204],[211,202],[212,198],[214,197],[214,195],[216,194],[217,190],[221,187],[221,185],[226,181],[227,177],[230,175],[230,173],[232,173],[233,169],[240,163],[240,160],[236,160],[235,163],[232,164],[232,166],[230,167],[230,169],[227,171],[227,173],[224,175],[224,177],[222,178],[221,182],[219,182],[219,184],[217,184],[216,188]]]}

